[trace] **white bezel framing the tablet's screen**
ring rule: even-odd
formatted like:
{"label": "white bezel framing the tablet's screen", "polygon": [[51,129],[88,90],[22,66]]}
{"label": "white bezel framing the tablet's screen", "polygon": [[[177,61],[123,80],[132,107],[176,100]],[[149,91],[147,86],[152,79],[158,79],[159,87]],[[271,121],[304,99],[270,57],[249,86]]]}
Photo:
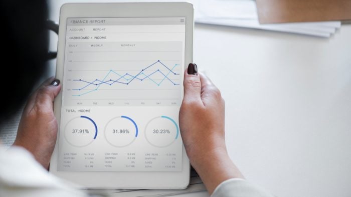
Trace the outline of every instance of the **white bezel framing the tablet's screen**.
{"label": "white bezel framing the tablet's screen", "polygon": [[[185,65],[193,60],[194,7],[188,2],[67,3],[60,10],[56,78],[63,81],[66,23],[69,17],[186,17]],[[183,81],[183,75],[182,75]],[[183,94],[183,93],[182,93]],[[183,95],[182,95],[183,97]],[[62,90],[55,99],[54,112],[60,126]],[[60,130],[60,128],[59,128]],[[59,135],[59,133],[58,133]],[[58,140],[50,172],[78,183],[83,188],[182,189],[189,185],[190,162],[183,145],[180,172],[58,171]]]}

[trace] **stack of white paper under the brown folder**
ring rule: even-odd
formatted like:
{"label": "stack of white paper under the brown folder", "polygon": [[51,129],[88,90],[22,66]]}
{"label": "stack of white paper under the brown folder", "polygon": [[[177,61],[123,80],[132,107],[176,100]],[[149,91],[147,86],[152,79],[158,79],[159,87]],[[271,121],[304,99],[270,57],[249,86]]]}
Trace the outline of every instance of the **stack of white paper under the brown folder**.
{"label": "stack of white paper under the brown folder", "polygon": [[254,0],[191,0],[195,22],[329,37],[340,21],[260,24]]}

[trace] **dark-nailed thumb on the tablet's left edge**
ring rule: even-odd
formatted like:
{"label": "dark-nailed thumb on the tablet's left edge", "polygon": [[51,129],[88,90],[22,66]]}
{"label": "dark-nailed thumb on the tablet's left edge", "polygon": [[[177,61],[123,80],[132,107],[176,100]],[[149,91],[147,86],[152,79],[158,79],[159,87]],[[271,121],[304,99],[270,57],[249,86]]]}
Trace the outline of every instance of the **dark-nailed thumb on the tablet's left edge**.
{"label": "dark-nailed thumb on the tablet's left edge", "polygon": [[60,80],[50,77],[30,96],[25,110],[30,111],[37,104],[52,108],[54,99],[60,92],[60,89]]}

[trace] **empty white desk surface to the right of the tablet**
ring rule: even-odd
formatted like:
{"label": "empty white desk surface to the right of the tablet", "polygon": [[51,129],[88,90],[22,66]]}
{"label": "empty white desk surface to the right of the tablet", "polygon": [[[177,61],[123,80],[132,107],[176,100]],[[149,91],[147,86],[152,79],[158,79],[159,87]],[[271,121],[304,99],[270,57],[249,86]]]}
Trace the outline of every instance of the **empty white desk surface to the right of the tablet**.
{"label": "empty white desk surface to the right of the tablet", "polygon": [[[51,19],[63,2],[50,2]],[[351,24],[329,39],[196,24],[194,38],[246,178],[277,196],[351,196]]]}

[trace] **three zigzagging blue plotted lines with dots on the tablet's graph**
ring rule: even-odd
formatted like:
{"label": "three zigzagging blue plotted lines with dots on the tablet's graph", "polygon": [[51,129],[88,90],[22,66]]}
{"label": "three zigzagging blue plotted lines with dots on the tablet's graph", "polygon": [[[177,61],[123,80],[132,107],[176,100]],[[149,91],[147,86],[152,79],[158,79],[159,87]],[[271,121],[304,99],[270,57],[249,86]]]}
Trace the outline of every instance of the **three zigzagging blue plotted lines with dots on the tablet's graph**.
{"label": "three zigzagging blue plotted lines with dots on the tablet's graph", "polygon": [[[161,64],[162,66],[164,66],[165,68],[167,68],[168,70],[168,73],[164,74],[160,69],[156,69],[155,71],[151,72],[150,74],[145,74],[145,72],[147,71],[148,68],[152,67],[153,65],[155,64]],[[80,94],[72,94],[73,96],[82,96],[82,95],[85,95],[87,93],[90,93],[90,92],[93,92],[93,91],[96,91],[99,89],[100,85],[102,84],[106,84],[106,85],[112,85],[112,84],[115,84],[115,83],[119,83],[119,84],[124,84],[124,85],[128,85],[130,82],[132,82],[134,79],[137,79],[137,80],[140,80],[140,81],[145,81],[146,78],[150,79],[153,83],[155,83],[157,86],[159,86],[164,80],[168,80],[169,82],[171,82],[173,85],[179,85],[179,83],[176,83],[174,82],[172,79],[170,79],[168,77],[168,75],[170,73],[174,74],[174,75],[177,75],[177,74],[180,74],[180,73],[175,73],[173,71],[173,69],[176,67],[176,66],[179,66],[180,64],[178,63],[175,63],[173,65],[172,68],[169,68],[168,66],[166,66],[162,61],[160,60],[157,60],[155,61],[154,63],[152,63],[151,65],[148,65],[147,67],[141,69],[139,71],[139,73],[137,73],[136,75],[131,75],[129,73],[124,73],[123,75],[116,72],[115,70],[112,70],[110,69],[107,74],[105,75],[105,77],[103,79],[95,79],[93,81],[87,81],[87,80],[84,80],[84,79],[73,79],[73,81],[80,81],[80,82],[84,82],[84,83],[87,83],[86,85],[84,85],[83,87],[80,87],[80,88],[75,88],[75,89],[72,89],[72,90],[78,90],[78,91],[81,91],[81,90],[85,90],[87,87],[89,86],[96,86],[96,88],[92,89],[92,90],[89,90],[89,91],[85,91],[83,93],[80,93]],[[156,82],[155,79],[152,79],[151,77],[153,75],[155,75],[156,73],[160,73],[161,75],[163,75],[163,78],[159,81],[159,82]],[[107,79],[106,78],[110,75],[110,74],[115,74],[118,76],[117,79],[113,80],[112,78],[110,79]]]}

